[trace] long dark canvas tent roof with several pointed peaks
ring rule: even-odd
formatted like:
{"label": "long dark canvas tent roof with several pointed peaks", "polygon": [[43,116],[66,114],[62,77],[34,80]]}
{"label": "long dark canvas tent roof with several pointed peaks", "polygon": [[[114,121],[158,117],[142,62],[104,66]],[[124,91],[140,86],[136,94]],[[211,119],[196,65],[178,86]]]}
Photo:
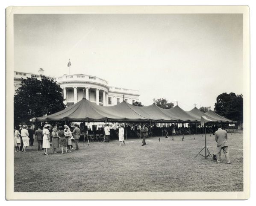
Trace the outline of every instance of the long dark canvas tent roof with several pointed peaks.
{"label": "long dark canvas tent roof with several pointed peaks", "polygon": [[82,99],[77,104],[57,113],[37,117],[36,121],[198,123],[201,116],[206,116],[212,122],[233,122],[212,110],[203,113],[196,107],[191,111],[185,111],[179,106],[171,109],[162,109],[156,104],[138,107],[125,101],[114,106],[103,107],[87,99]]}

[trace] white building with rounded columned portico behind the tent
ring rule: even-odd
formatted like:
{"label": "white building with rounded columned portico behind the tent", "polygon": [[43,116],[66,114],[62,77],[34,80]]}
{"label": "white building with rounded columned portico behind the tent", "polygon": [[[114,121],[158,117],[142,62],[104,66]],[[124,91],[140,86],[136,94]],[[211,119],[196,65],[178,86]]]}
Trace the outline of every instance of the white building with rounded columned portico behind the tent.
{"label": "white building with rounded columned portico behind the tent", "polygon": [[[39,69],[38,74],[14,71],[14,92],[21,86],[21,78],[34,76],[40,79],[40,75],[44,75],[43,69]],[[140,96],[138,90],[112,87],[109,86],[108,81],[96,76],[64,74],[60,77],[47,77],[55,80],[62,88],[63,98],[65,99],[64,104],[66,104],[67,107],[76,104],[83,97],[98,105],[112,106],[121,103],[123,97],[126,102],[132,104],[138,101]]]}

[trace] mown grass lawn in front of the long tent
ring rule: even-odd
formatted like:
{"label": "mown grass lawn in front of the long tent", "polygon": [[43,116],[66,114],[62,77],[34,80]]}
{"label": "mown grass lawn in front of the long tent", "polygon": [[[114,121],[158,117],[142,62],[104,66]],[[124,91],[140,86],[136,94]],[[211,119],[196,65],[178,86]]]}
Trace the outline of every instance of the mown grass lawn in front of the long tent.
{"label": "mown grass lawn in front of the long tent", "polygon": [[[230,161],[221,163],[197,153],[204,147],[202,135],[128,139],[79,143],[79,151],[43,155],[37,142],[27,153],[14,154],[14,191],[243,191],[243,136],[228,133]],[[207,146],[215,154],[214,136]]]}

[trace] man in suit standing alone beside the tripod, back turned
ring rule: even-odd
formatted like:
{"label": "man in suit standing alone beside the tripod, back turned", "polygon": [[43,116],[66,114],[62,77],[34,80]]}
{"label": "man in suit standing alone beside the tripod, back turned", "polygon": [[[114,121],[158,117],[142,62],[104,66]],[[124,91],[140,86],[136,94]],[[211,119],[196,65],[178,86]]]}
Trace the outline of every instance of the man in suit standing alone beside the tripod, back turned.
{"label": "man in suit standing alone beside the tripod, back turned", "polygon": [[220,162],[222,149],[226,157],[227,164],[231,164],[229,147],[227,145],[227,131],[223,130],[222,128],[218,128],[218,130],[215,132],[215,141],[217,142],[217,162]]}

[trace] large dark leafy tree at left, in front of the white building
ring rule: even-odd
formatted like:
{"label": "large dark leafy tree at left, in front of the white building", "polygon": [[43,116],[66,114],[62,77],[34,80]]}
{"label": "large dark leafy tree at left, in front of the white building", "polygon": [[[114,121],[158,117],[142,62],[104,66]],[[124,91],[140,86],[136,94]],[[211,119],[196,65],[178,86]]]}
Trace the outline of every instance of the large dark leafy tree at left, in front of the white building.
{"label": "large dark leafy tree at left, in front of the white building", "polygon": [[41,75],[21,80],[14,95],[14,124],[28,123],[33,117],[45,116],[65,109],[62,89],[56,81]]}

